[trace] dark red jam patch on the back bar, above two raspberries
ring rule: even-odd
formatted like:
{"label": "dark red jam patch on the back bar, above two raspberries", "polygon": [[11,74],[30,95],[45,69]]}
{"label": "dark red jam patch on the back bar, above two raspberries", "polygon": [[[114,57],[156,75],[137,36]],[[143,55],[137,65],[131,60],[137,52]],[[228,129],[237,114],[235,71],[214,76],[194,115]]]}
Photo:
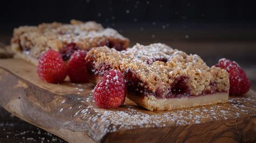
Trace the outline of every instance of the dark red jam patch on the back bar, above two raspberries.
{"label": "dark red jam patch on the back bar, above two raspberries", "polygon": [[62,49],[60,49],[59,53],[62,54],[63,60],[69,60],[70,56],[80,49],[75,42],[70,42],[66,46],[64,46]]}

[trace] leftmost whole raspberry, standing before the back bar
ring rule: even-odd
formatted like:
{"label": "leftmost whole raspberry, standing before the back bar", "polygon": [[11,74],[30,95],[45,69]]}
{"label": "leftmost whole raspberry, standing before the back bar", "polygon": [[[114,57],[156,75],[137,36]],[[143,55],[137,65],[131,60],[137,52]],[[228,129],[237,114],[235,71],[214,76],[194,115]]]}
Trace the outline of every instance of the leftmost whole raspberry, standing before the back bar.
{"label": "leftmost whole raspberry, standing before the back bar", "polygon": [[37,73],[46,82],[60,83],[68,75],[68,68],[62,59],[62,55],[49,49],[39,59]]}

